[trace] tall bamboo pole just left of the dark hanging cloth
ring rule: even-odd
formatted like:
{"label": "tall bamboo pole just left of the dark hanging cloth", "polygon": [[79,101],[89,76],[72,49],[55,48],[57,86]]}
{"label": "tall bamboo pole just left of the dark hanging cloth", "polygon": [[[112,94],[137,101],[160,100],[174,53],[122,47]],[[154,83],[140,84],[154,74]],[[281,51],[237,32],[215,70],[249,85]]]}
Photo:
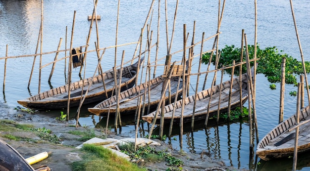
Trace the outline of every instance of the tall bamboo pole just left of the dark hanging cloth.
{"label": "tall bamboo pole just left of the dark hanging cloth", "polygon": [[[71,96],[71,74],[72,74],[72,43],[73,43],[73,33],[74,33],[74,24],[75,24],[75,14],[73,15],[72,23],[72,32],[71,32],[71,42],[70,42],[70,58],[69,58],[69,68],[68,68],[68,103],[67,103],[67,120],[69,120],[69,111],[70,111],[70,96]],[[78,122],[77,122],[78,123]]]}

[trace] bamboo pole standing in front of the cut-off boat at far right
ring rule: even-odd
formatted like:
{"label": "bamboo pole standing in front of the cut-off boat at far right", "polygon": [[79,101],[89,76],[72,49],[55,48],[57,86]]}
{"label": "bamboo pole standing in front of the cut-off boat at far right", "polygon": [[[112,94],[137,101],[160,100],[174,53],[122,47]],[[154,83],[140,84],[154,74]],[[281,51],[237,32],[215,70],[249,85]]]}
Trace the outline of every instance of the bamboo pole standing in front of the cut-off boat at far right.
{"label": "bamboo pole standing in front of the cut-off boat at far right", "polygon": [[[304,87],[303,87],[304,88]],[[301,83],[298,83],[298,94],[297,94],[297,106],[296,106],[296,125],[299,124],[299,115],[300,115],[300,99],[301,99]],[[297,167],[297,151],[298,151],[298,136],[299,136],[299,127],[295,129],[295,145],[294,145],[294,158],[293,158],[293,169],[296,171]]]}

